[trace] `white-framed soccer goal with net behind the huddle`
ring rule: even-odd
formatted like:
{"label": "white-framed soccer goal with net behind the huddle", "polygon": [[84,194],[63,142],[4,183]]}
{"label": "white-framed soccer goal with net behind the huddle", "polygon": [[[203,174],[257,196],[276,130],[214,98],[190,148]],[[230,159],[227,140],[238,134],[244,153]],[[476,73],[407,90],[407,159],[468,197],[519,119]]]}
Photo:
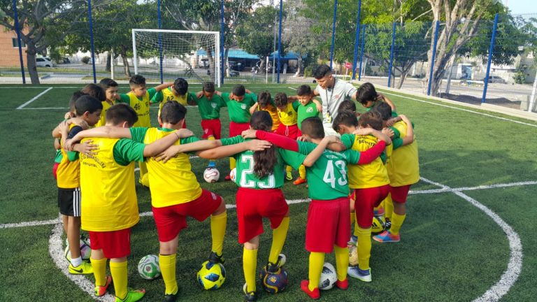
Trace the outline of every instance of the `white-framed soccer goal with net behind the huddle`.
{"label": "white-framed soccer goal with net behind the huddle", "polygon": [[134,73],[148,82],[213,81],[220,87],[220,33],[132,29]]}

